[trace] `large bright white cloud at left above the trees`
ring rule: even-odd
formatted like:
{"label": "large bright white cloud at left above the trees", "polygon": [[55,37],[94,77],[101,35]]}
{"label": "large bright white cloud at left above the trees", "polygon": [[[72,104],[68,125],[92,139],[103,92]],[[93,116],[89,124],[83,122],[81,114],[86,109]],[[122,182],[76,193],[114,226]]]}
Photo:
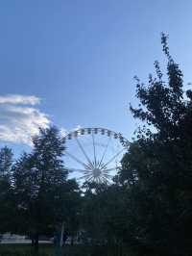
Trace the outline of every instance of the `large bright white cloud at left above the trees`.
{"label": "large bright white cloud at left above the trees", "polygon": [[32,144],[38,127],[50,124],[48,115],[36,108],[39,102],[39,98],[31,95],[0,96],[0,141]]}

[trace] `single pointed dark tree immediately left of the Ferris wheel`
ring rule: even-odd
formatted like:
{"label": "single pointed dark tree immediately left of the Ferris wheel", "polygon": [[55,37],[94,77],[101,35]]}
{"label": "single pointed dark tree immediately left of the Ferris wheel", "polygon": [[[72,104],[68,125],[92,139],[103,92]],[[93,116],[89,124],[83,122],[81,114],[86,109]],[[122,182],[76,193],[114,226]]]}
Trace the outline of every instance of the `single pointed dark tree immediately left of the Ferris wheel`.
{"label": "single pointed dark tree immediately left of the Ferris wheel", "polygon": [[67,180],[61,159],[64,141],[56,127],[40,129],[33,142],[32,153],[15,163],[13,178],[20,232],[27,231],[37,245],[40,234],[53,235],[55,227],[67,221],[78,186]]}

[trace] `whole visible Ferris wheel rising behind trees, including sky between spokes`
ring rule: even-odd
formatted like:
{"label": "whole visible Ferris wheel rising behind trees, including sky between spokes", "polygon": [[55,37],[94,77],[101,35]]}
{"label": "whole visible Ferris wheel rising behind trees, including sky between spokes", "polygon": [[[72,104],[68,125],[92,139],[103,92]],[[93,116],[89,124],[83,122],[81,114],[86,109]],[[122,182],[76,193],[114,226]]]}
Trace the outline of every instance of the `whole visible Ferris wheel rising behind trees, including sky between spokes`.
{"label": "whole visible Ferris wheel rising behind trees, including sky between spokes", "polygon": [[80,183],[110,183],[129,141],[105,128],[81,128],[64,136],[65,168]]}

